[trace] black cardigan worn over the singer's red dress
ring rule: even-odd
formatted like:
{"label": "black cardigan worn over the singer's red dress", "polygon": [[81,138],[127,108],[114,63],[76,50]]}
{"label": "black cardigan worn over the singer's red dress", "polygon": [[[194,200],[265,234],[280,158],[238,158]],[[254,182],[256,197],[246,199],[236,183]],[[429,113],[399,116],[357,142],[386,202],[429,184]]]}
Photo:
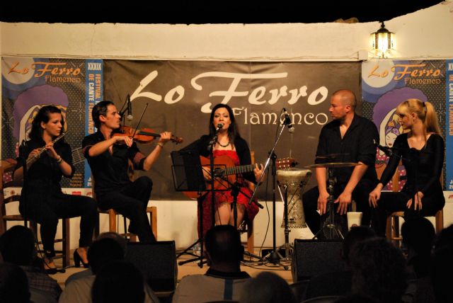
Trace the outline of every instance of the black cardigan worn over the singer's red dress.
{"label": "black cardigan worn over the singer's red dress", "polygon": [[[183,151],[195,151],[200,156],[208,157],[210,156],[210,149],[208,148],[209,143],[212,137],[210,135],[203,135],[200,139],[197,139],[195,142],[189,144],[187,147],[184,147]],[[252,164],[250,149],[248,149],[248,144],[246,140],[237,136],[234,139],[234,147],[236,147],[236,154],[238,154],[239,162],[241,165],[250,165]],[[243,178],[252,183],[256,183],[255,175],[253,172],[249,171],[247,173],[242,173]]]}

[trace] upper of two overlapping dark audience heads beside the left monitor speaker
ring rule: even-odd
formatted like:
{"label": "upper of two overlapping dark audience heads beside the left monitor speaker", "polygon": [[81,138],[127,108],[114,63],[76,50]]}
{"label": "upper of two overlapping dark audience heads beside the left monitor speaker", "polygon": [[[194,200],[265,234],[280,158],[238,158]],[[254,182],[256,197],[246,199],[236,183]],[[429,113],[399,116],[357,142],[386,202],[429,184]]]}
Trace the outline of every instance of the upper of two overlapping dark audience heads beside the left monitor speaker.
{"label": "upper of two overlapping dark audience heads beside the left monitor speaker", "polygon": [[88,263],[95,275],[108,263],[121,261],[124,258],[124,251],[120,244],[110,238],[96,240],[88,249]]}

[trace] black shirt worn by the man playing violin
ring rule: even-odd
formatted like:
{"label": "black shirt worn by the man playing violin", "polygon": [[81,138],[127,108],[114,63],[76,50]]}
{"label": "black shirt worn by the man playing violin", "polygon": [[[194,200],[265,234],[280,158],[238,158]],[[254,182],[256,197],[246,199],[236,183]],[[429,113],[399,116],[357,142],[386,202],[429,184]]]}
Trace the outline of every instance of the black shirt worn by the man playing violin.
{"label": "black shirt worn by the man playing violin", "polygon": [[98,156],[89,156],[89,149],[105,140],[102,132],[98,131],[92,135],[84,137],[82,148],[84,148],[84,156],[88,160],[94,180],[94,190],[96,195],[118,190],[122,186],[129,184],[130,178],[127,175],[129,161],[134,163],[134,169],[143,170],[144,159],[138,162],[134,161],[134,156],[139,152],[137,144],[132,143],[132,147],[127,147],[126,144],[113,144],[113,154],[107,149]]}

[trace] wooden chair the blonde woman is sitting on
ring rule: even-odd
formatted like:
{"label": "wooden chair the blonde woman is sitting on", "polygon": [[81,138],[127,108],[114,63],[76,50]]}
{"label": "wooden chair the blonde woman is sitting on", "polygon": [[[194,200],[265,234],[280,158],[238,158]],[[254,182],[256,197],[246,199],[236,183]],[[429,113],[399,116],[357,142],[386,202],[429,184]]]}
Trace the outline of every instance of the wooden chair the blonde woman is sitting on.
{"label": "wooden chair the blonde woman is sitting on", "polygon": [[[380,178],[380,176],[379,176]],[[393,192],[398,192],[399,190],[399,171],[398,168],[396,168],[396,171],[394,173],[393,178],[391,179],[392,181],[392,191]],[[442,184],[443,177],[442,173],[440,175],[440,183]],[[391,215],[387,217],[386,221],[386,238],[389,239],[389,241],[392,241],[396,246],[401,246],[401,241],[403,238],[401,237],[400,234],[400,224],[399,224],[399,218],[404,217],[404,212],[392,212]],[[438,210],[435,214],[435,230],[436,234],[441,231],[444,228],[444,210]]]}

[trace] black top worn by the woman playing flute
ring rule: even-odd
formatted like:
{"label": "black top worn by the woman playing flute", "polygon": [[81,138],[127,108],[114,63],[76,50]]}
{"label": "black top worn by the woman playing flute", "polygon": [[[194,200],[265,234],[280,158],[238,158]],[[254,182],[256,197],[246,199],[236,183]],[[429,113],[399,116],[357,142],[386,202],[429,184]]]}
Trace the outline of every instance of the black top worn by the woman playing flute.
{"label": "black top worn by the woman playing flute", "polygon": [[[16,169],[23,166],[23,159],[27,159],[33,149],[41,149],[45,146],[44,140],[28,140],[25,145],[19,148],[19,157],[17,159]],[[72,165],[71,147],[63,141],[57,141],[54,144],[54,149],[62,157],[62,159],[71,166],[72,178],[76,168]],[[59,184],[62,181],[62,170],[59,168],[56,159],[52,159],[47,152],[43,152],[40,158],[35,161],[27,171],[27,179],[25,183],[25,193],[33,193],[33,195],[40,195],[42,198],[62,193],[62,187]],[[30,197],[30,195],[26,195]]]}

